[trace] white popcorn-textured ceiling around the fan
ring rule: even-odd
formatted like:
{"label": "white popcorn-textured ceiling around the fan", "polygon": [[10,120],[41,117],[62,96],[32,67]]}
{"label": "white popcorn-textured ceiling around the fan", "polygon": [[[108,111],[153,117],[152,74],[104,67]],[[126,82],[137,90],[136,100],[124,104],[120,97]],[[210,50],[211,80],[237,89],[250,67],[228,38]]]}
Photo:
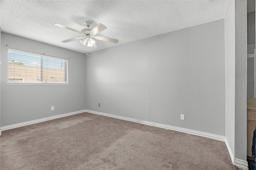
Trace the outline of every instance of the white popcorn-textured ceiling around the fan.
{"label": "white popcorn-textured ceiling around the fan", "polygon": [[[1,0],[1,31],[48,43],[80,53],[97,51],[168,33],[178,29],[223,19],[230,0],[169,1],[88,1],[88,0]],[[76,30],[87,28],[85,21],[107,29],[97,35],[118,39],[119,43],[96,40],[92,49],[79,40],[61,41],[80,34],[57,27],[59,23]]]}

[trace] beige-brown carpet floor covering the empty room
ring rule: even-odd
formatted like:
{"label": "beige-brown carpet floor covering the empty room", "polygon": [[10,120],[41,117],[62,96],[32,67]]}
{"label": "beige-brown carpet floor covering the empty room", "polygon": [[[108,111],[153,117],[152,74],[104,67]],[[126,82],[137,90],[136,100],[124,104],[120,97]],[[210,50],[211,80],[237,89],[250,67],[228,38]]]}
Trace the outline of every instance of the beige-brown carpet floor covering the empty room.
{"label": "beige-brown carpet floor covering the empty room", "polygon": [[2,131],[1,170],[237,170],[224,142],[91,113]]}

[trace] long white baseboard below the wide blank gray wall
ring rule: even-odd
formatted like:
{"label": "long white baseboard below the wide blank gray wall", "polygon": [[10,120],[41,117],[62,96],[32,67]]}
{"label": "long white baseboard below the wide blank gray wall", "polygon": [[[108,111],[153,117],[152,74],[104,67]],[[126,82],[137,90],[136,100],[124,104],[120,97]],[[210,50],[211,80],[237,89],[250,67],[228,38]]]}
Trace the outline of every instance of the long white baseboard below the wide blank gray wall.
{"label": "long white baseboard below the wide blank gray wall", "polygon": [[126,120],[126,121],[132,121],[132,122],[136,122],[136,123],[141,123],[141,124],[144,124],[144,125],[161,127],[161,128],[164,128],[164,129],[169,129],[169,130],[173,130],[173,131],[179,131],[179,132],[188,133],[188,134],[191,134],[191,135],[207,137],[207,138],[215,139],[215,140],[222,141],[222,142],[225,141],[225,137],[224,136],[215,135],[215,134],[212,134],[212,133],[206,133],[206,132],[201,132],[201,131],[194,131],[194,130],[190,130],[190,129],[184,129],[184,128],[181,128],[181,127],[175,127],[175,126],[170,126],[170,125],[163,125],[163,124],[160,124],[160,123],[153,123],[153,122],[149,122],[149,121],[132,119],[132,118],[129,118],[129,117],[123,117],[123,116],[118,116],[118,115],[111,115],[111,114],[108,114],[108,113],[102,113],[102,112],[98,112],[98,111],[92,111],[92,110],[85,110],[85,111],[88,112],[88,113],[94,113],[94,114],[97,114],[97,115],[104,115],[104,116],[113,117],[113,118],[116,118],[116,119],[122,119],[122,120]]}

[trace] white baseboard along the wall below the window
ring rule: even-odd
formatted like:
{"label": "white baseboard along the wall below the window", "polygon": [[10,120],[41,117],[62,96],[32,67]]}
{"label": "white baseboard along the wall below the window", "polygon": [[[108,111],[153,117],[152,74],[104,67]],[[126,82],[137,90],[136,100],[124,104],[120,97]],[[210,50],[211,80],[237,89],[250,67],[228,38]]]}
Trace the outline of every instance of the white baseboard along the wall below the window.
{"label": "white baseboard along the wall below the window", "polygon": [[57,119],[57,118],[60,118],[60,117],[66,117],[66,116],[70,116],[70,115],[74,115],[74,114],[78,114],[78,113],[83,113],[83,112],[86,112],[86,111],[85,110],[74,111],[74,112],[65,113],[65,114],[61,114],[61,115],[45,117],[45,118],[42,118],[42,119],[26,121],[26,122],[23,122],[23,123],[17,123],[17,124],[14,124],[14,125],[3,126],[3,127],[0,127],[0,135],[1,135],[1,131],[6,131],[6,130],[9,130],[9,129],[14,129],[14,128],[17,128],[17,127],[22,127],[22,126],[27,126],[27,125],[32,125],[32,124],[39,123],[39,122],[42,122],[42,121],[48,121],[48,120]]}

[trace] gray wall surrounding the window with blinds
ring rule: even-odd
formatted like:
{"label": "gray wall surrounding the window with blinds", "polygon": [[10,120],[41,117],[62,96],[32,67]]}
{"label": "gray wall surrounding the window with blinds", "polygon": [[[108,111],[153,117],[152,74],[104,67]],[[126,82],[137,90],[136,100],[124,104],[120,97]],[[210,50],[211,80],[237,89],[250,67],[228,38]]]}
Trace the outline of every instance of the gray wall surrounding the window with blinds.
{"label": "gray wall surrounding the window with blinds", "polygon": [[[8,48],[68,59],[70,85],[6,85]],[[85,109],[84,54],[2,32],[1,56],[1,127]]]}

